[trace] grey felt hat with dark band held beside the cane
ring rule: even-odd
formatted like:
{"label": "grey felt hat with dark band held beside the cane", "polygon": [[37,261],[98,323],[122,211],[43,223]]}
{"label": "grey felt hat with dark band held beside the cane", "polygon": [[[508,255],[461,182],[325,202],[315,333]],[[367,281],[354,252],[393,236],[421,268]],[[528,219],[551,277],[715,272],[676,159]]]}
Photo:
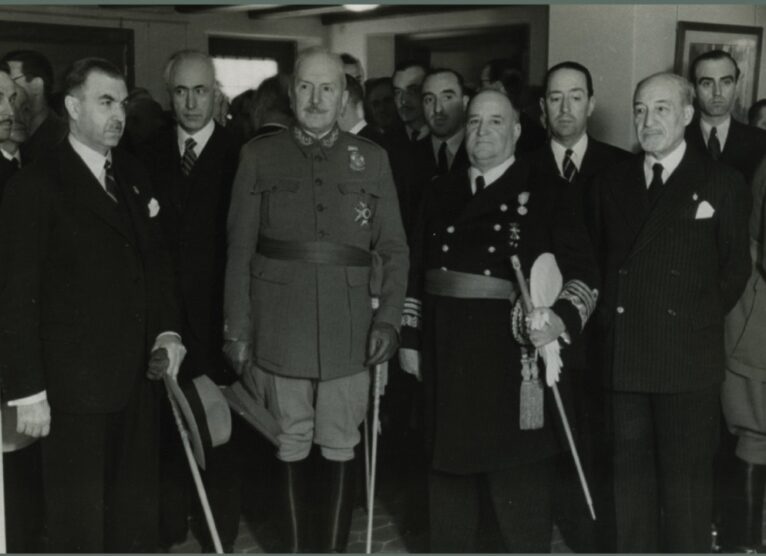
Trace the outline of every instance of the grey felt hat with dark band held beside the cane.
{"label": "grey felt hat with dark band held beside the cane", "polygon": [[163,376],[171,403],[180,409],[197,464],[205,469],[205,450],[226,444],[231,437],[231,412],[221,389],[207,375],[191,381]]}

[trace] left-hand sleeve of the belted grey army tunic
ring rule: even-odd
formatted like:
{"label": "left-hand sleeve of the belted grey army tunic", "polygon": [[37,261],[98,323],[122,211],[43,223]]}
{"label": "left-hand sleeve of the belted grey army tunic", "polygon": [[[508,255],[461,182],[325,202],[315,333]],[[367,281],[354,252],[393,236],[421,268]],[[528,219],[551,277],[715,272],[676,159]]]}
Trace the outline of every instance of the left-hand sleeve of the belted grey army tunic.
{"label": "left-hand sleeve of the belted grey army tunic", "polygon": [[246,144],[232,186],[226,225],[228,250],[224,285],[224,339],[250,341],[250,261],[258,244],[261,196],[255,193],[256,154]]}

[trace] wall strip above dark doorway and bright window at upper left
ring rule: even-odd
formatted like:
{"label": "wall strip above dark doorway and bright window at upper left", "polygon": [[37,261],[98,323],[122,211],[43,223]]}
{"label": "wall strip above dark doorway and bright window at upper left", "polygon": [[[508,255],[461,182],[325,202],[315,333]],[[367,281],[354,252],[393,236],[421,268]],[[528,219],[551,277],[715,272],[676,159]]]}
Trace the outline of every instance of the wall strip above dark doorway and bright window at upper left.
{"label": "wall strip above dark doorway and bright window at upper left", "polygon": [[162,68],[168,56],[182,48],[207,51],[208,37],[232,36],[296,40],[298,48],[322,44],[326,28],[316,18],[256,21],[244,12],[177,14],[158,8],[103,9],[80,6],[0,6],[5,21],[58,23],[133,29],[136,85],[146,87],[155,99],[167,104]]}

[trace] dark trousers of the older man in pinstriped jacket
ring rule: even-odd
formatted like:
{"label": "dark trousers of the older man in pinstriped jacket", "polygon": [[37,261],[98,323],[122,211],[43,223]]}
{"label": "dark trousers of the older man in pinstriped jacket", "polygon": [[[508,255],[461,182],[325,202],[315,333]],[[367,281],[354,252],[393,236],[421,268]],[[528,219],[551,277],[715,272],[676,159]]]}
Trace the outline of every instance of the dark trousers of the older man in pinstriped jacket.
{"label": "dark trousers of the older man in pinstriped jacket", "polygon": [[720,387],[612,392],[618,552],[709,552]]}

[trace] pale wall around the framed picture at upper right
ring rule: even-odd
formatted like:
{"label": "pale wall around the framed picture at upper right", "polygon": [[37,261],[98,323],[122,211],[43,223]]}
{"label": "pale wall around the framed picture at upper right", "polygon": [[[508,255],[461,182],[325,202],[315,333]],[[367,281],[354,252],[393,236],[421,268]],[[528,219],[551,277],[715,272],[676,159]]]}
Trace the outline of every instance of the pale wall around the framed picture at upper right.
{"label": "pale wall around the framed picture at upper right", "polygon": [[[552,5],[548,62],[576,60],[593,74],[596,112],[591,131],[623,148],[636,146],[631,101],[636,83],[672,71],[676,24],[696,21],[761,26],[766,6],[726,5]],[[766,95],[766,56],[761,53],[758,98]]]}

